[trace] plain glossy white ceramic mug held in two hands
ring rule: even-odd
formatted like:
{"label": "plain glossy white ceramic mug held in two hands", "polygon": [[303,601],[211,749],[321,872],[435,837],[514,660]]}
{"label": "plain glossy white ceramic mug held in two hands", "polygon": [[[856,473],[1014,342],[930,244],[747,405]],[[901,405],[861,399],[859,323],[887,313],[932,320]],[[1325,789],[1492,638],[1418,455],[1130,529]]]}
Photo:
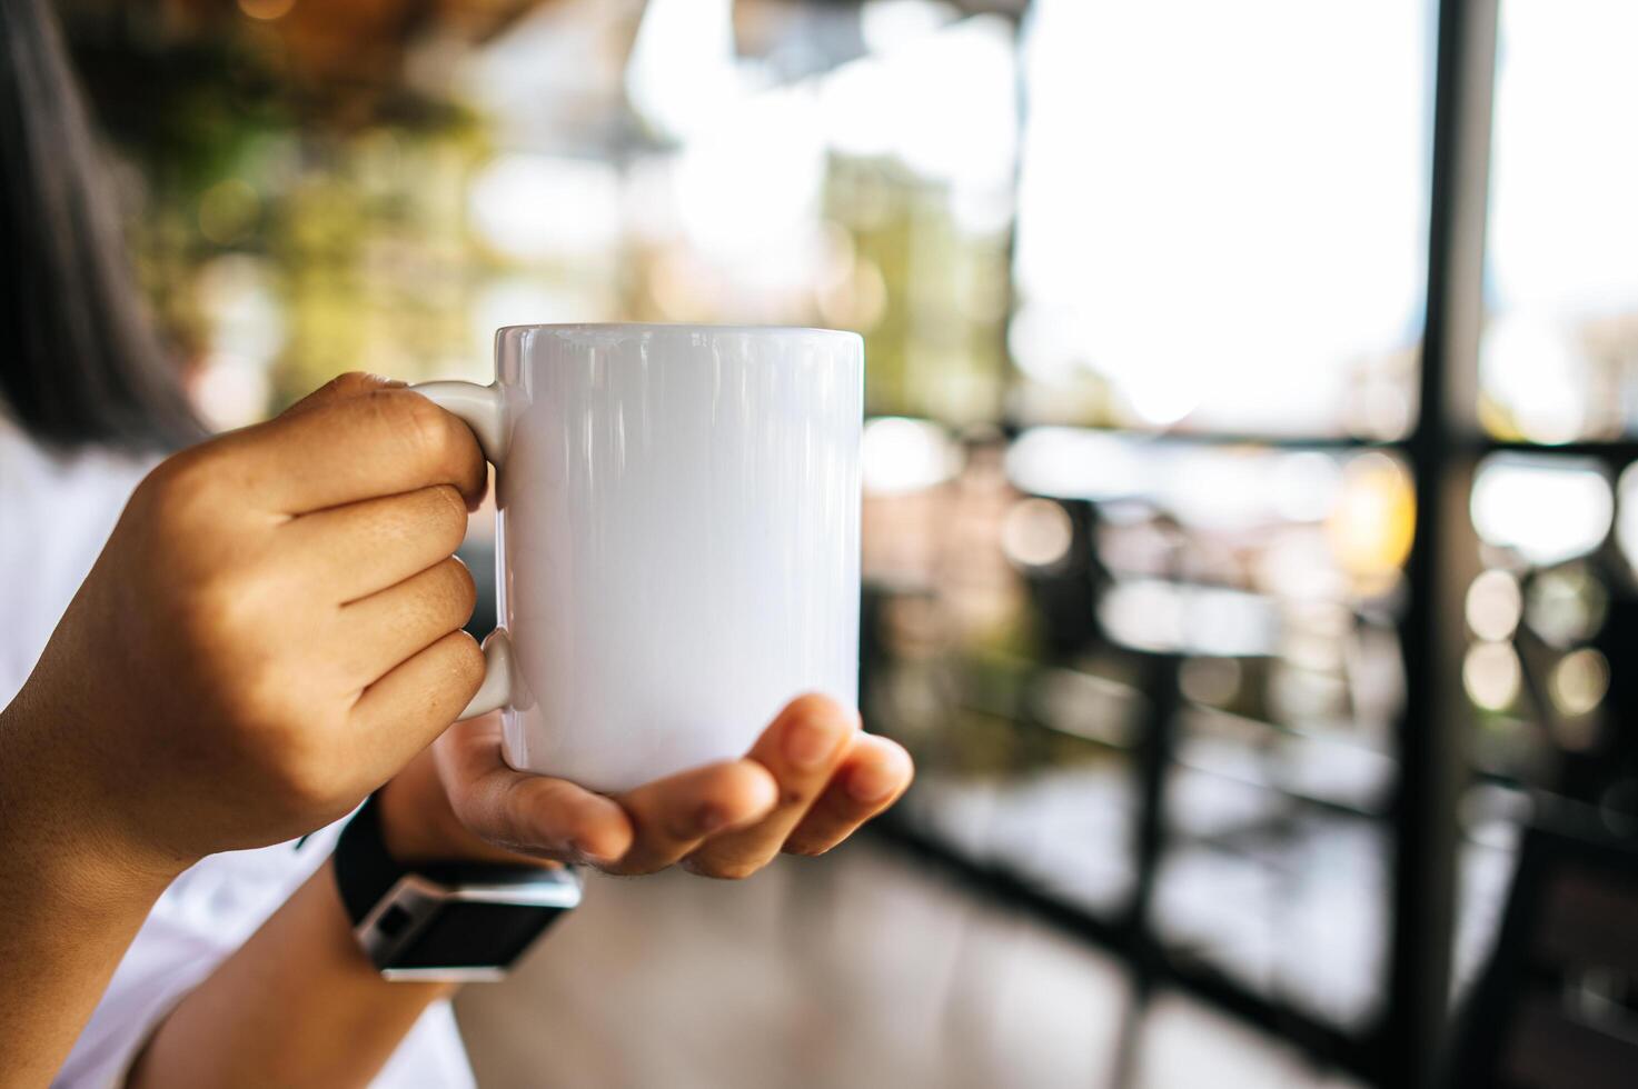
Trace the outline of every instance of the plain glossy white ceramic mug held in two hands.
{"label": "plain glossy white ceramic mug held in two hands", "polygon": [[496,468],[464,717],[503,709],[508,763],[621,791],[857,703],[863,368],[827,329],[509,326],[493,385],[416,386]]}

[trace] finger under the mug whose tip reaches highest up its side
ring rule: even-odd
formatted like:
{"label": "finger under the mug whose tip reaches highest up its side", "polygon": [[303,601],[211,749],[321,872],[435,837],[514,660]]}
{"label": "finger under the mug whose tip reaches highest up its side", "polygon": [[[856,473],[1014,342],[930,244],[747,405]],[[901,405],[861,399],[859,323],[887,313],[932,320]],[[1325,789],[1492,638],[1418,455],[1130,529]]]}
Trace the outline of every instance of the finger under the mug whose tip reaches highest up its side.
{"label": "finger under the mug whose tip reaches highest up its side", "polygon": [[824,696],[793,699],[750,750],[750,758],[780,784],[780,801],[755,825],[713,835],[688,856],[688,870],[739,879],[767,866],[824,793],[857,730],[858,719],[835,701]]}

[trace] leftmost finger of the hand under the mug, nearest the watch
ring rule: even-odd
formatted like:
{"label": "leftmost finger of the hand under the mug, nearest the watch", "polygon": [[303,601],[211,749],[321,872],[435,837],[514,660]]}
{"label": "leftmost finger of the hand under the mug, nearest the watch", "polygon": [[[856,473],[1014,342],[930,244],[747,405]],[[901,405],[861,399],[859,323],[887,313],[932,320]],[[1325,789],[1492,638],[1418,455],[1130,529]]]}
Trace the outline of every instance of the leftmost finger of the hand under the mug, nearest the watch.
{"label": "leftmost finger of the hand under the mug, nearest the watch", "polygon": [[631,850],[631,820],[618,804],[501,761],[500,714],[457,722],[437,739],[436,755],[455,816],[500,848],[600,866]]}

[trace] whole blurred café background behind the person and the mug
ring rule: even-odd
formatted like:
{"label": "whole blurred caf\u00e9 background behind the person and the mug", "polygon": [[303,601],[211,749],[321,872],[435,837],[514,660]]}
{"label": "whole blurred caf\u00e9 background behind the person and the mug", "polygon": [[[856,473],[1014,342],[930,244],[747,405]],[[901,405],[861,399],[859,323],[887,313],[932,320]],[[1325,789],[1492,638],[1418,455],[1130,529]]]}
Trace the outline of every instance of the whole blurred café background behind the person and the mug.
{"label": "whole blurred caf\u00e9 background behind the person and the mug", "polygon": [[595,881],[464,996],[483,1084],[1638,1061],[1638,7],[59,7],[215,426],[486,380],[508,323],[867,339],[916,788],[744,886]]}

